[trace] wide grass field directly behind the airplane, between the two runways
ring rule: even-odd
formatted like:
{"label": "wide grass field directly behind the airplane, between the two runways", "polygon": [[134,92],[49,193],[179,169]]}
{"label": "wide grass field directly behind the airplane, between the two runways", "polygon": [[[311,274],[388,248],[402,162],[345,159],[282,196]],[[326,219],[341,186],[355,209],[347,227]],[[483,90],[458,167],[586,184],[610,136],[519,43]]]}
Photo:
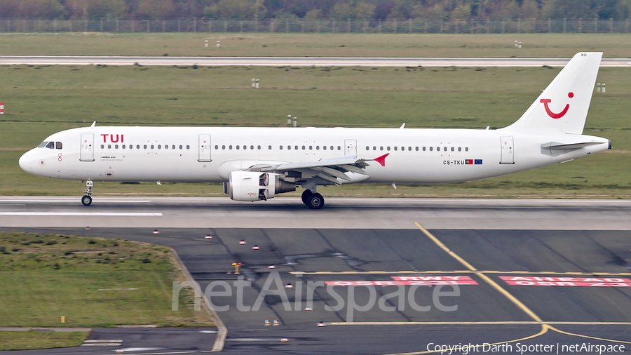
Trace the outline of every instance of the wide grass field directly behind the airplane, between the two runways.
{"label": "wide grass field directly behind the airplane, between the two runways", "polygon": [[[0,194],[71,194],[80,182],[23,172],[22,152],[76,126],[485,128],[513,123],[560,68],[4,66]],[[250,88],[258,78],[261,88]],[[604,197],[631,195],[631,69],[602,68],[585,134],[614,149],[561,166],[434,186],[348,185],[325,196]],[[222,195],[220,185],[100,183],[97,195]],[[287,194],[283,196],[296,196]]]}

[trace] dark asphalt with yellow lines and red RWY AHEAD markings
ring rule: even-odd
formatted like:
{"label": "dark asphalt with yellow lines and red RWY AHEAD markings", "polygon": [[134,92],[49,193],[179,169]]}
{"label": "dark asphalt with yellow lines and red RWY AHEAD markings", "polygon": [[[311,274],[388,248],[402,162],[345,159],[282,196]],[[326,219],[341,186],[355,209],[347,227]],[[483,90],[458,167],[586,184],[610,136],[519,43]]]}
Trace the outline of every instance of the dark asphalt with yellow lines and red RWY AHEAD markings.
{"label": "dark asphalt with yellow lines and red RWY AHEAD markings", "polygon": [[[440,229],[426,234],[419,227],[204,228],[160,229],[160,234],[154,235],[153,229],[148,228],[19,229],[124,238],[175,248],[215,307],[227,308],[219,311],[229,329],[224,344],[226,352],[393,354],[416,353],[433,350],[436,344],[459,343],[480,344],[481,351],[485,342],[513,347],[500,353],[517,352],[517,344],[522,347],[524,344],[541,347],[627,344],[627,350],[631,347],[631,288],[620,286],[623,283],[618,283],[620,287],[519,286],[501,279],[630,279],[631,232],[628,231]],[[213,238],[204,239],[206,234]],[[242,239],[245,245],[239,243]],[[254,245],[260,249],[252,250]],[[233,272],[232,262],[243,263],[239,275],[229,273]],[[269,269],[270,264],[276,268]],[[235,283],[239,276],[244,276],[243,282],[250,282],[242,291]],[[414,286],[402,286],[402,297],[390,297],[382,306],[377,300],[397,292],[399,286],[374,286],[374,305],[358,309],[371,303],[369,288],[355,286],[351,295],[348,286],[334,286],[330,290],[317,283],[393,281],[397,276],[468,276],[476,284],[458,286],[459,295],[453,294],[454,286],[443,286],[438,291],[437,286],[419,286],[414,293],[410,292]],[[209,291],[211,283],[215,288]],[[267,287],[266,283],[269,283]],[[287,283],[292,283],[294,288],[285,289],[283,286]],[[308,301],[307,283],[315,286],[311,311],[304,310]],[[226,289],[231,291],[230,296],[217,295]],[[238,309],[239,302],[245,307],[253,306],[262,290],[276,290],[276,294],[262,297],[264,302],[257,311]],[[209,293],[212,291],[215,293]],[[287,309],[283,304],[283,291],[287,295]],[[452,294],[436,301],[435,292],[440,291]],[[242,298],[238,297],[240,292]],[[338,306],[339,300],[344,307],[336,311],[325,309],[325,306]],[[348,307],[351,300],[358,305],[353,312]],[[440,309],[443,306],[456,306],[456,309]],[[388,311],[382,307],[398,309]],[[351,316],[353,323],[349,323]],[[266,320],[271,323],[278,320],[279,325],[265,326]],[[326,323],[324,328],[316,326],[320,321]],[[102,331],[96,329],[93,335],[114,339]],[[152,330],[143,331],[151,333]],[[159,342],[141,343],[134,336],[120,335],[119,339],[125,339],[120,346],[102,347],[100,352],[92,354],[111,354],[116,348],[142,346],[161,349],[132,353],[186,354],[185,351],[201,353],[212,347],[210,337],[205,346],[193,340],[188,344],[187,339],[197,339],[199,335],[163,331],[167,333],[162,333]],[[280,342],[282,337],[287,337],[288,342]],[[539,352],[535,347],[531,349],[533,351],[524,351],[524,354]],[[39,354],[29,351],[31,353]],[[564,353],[597,354],[594,351],[559,352]],[[48,350],[46,354],[70,353]]]}

